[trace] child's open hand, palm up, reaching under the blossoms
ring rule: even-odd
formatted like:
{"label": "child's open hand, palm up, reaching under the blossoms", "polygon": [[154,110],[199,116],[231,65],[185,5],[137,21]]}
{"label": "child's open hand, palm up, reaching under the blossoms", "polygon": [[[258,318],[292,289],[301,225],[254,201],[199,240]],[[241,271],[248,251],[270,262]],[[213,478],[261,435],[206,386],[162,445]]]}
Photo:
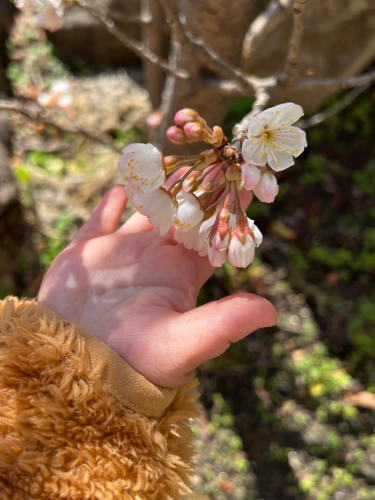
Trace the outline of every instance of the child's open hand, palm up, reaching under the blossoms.
{"label": "child's open hand, palm up, reaching under the blossoms", "polygon": [[264,298],[235,294],[195,308],[214,268],[207,257],[159,237],[136,213],[118,228],[127,199],[110,189],[55,259],[38,300],[114,349],[150,382],[185,383],[202,362],[232,342],[274,325]]}

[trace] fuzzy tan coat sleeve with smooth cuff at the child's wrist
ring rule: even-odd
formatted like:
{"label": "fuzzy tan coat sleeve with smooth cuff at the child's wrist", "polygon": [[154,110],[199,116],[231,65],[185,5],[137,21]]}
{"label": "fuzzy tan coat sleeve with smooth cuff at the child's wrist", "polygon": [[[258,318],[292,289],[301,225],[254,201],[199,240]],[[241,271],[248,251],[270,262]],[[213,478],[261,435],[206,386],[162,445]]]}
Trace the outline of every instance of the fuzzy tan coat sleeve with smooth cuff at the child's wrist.
{"label": "fuzzy tan coat sleeve with smooth cuff at the child's wrist", "polygon": [[195,385],[154,386],[51,309],[0,302],[0,500],[179,498]]}

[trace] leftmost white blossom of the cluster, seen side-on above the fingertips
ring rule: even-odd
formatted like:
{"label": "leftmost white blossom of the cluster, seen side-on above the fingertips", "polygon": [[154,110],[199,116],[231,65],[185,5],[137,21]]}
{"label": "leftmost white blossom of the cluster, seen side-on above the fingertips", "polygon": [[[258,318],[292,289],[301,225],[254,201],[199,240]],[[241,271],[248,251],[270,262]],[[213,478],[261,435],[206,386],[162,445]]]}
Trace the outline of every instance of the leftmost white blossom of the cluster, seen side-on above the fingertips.
{"label": "leftmost white blossom of the cluster, seen side-on above the fingertips", "polygon": [[152,144],[126,146],[118,169],[125,175],[125,181],[141,196],[156,191],[165,181],[162,155]]}

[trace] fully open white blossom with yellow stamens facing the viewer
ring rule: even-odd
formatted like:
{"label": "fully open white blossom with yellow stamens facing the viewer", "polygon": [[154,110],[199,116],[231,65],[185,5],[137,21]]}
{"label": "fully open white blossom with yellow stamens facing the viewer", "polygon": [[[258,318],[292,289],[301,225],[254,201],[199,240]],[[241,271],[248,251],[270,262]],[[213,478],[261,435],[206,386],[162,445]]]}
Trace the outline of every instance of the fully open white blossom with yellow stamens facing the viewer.
{"label": "fully open white blossom with yellow stamens facing the viewer", "polygon": [[294,164],[307,146],[306,134],[292,123],[303,115],[301,106],[279,104],[262,111],[250,122],[247,139],[242,144],[245,161],[269,166],[279,172]]}

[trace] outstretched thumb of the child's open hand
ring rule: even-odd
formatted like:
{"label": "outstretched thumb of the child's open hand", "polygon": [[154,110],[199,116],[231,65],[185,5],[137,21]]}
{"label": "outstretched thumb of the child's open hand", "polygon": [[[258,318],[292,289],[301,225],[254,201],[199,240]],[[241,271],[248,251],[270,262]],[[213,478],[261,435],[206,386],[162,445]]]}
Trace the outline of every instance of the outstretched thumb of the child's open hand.
{"label": "outstretched thumb of the child's open hand", "polygon": [[239,293],[210,302],[174,318],[179,332],[176,356],[186,374],[198,365],[222,354],[231,343],[258,328],[273,326],[277,312],[268,300],[251,293]]}

